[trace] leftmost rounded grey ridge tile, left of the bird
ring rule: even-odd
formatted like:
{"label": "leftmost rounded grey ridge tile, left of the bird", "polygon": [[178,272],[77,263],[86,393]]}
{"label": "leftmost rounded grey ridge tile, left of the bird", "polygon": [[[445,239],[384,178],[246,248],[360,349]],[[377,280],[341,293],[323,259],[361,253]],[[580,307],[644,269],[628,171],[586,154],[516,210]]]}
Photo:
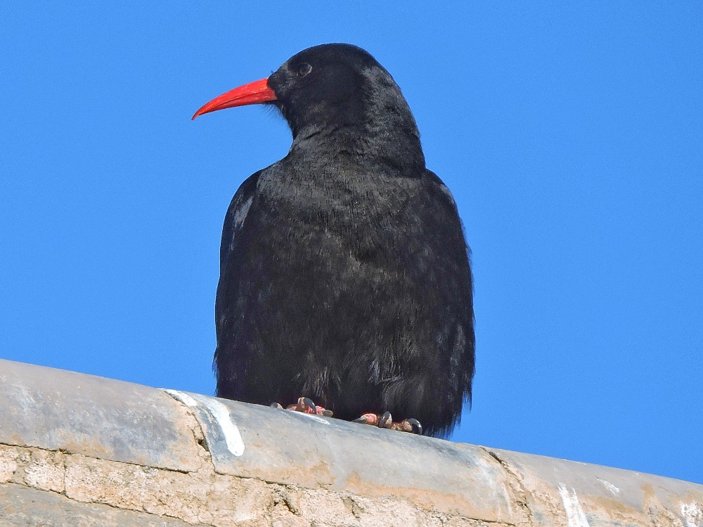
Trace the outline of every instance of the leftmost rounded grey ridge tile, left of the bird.
{"label": "leftmost rounded grey ridge tile, left of the bird", "polygon": [[193,470],[192,419],[162,391],[0,359],[0,443]]}

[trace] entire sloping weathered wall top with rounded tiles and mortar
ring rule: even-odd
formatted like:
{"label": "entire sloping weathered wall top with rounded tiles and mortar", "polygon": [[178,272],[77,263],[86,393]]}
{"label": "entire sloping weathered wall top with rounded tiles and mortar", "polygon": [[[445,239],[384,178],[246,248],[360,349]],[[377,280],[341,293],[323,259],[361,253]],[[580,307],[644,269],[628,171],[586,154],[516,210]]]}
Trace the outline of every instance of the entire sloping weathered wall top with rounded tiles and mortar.
{"label": "entire sloping weathered wall top with rounded tiles and mortar", "polygon": [[0,409],[0,525],[703,527],[695,483],[7,360]]}

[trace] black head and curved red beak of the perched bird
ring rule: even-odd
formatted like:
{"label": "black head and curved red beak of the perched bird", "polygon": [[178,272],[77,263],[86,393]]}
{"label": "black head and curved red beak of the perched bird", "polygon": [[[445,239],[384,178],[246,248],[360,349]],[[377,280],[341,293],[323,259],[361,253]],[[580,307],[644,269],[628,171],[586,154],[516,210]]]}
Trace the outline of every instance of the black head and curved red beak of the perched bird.
{"label": "black head and curved red beak of the perched bird", "polygon": [[261,79],[214,98],[208,112],[250,104],[276,105],[293,137],[309,126],[363,126],[366,132],[401,127],[419,136],[415,119],[390,74],[369,53],[351,44],[322,44],[292,56]]}

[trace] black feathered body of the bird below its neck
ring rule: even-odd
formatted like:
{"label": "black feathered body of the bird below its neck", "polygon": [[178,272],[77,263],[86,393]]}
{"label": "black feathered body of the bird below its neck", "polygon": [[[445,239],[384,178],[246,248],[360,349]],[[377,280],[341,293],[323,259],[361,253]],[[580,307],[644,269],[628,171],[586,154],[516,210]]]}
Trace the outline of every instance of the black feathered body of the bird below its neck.
{"label": "black feathered body of the bird below its neck", "polygon": [[432,172],[383,164],[289,155],[240,188],[222,240],[219,396],[451,427],[474,368],[456,205]]}

